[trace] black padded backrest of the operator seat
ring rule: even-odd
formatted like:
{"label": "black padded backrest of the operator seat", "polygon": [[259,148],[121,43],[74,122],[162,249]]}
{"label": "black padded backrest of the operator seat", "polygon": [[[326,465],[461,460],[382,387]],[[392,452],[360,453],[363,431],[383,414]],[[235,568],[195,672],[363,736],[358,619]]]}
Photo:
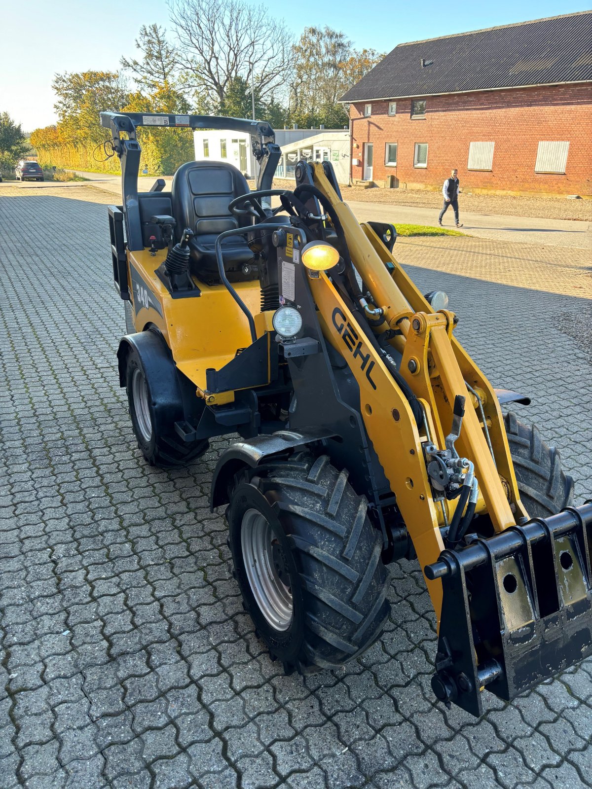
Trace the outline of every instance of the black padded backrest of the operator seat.
{"label": "black padded backrest of the operator seat", "polygon": [[234,197],[248,193],[249,185],[231,164],[187,162],[174,174],[171,191],[178,237],[185,227],[196,235],[218,235],[239,226],[228,204]]}

